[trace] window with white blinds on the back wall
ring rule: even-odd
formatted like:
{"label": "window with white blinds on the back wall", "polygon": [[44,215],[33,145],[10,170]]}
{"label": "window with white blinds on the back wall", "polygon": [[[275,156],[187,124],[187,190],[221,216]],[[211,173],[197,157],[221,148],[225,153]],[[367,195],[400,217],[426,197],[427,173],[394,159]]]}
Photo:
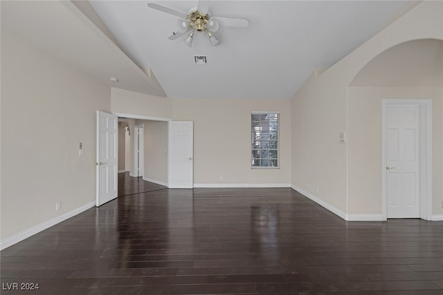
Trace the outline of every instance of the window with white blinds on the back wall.
{"label": "window with white blinds on the back wall", "polygon": [[251,167],[278,168],[278,112],[251,113]]}

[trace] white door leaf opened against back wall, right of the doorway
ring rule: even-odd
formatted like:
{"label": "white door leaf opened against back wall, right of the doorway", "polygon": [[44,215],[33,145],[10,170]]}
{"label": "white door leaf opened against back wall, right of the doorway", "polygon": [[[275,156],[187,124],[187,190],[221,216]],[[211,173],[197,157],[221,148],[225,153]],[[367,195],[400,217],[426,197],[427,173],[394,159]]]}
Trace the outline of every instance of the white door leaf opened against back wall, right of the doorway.
{"label": "white door leaf opened against back wall, right of the doorway", "polygon": [[168,187],[192,189],[194,187],[194,122],[169,122]]}

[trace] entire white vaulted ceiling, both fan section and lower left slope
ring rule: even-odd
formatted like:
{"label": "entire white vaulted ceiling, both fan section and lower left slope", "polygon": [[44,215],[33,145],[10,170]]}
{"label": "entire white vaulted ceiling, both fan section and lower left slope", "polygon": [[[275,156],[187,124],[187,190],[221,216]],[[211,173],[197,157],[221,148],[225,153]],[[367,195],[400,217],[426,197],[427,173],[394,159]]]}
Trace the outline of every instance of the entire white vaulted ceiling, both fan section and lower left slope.
{"label": "entire white vaulted ceiling, both fan section and lower left slope", "polygon": [[[117,46],[66,3],[63,8],[54,1],[5,2],[2,26],[58,58],[106,83],[117,77],[114,87],[177,99],[291,99],[316,68],[332,66],[406,5],[371,0],[210,1],[210,15],[244,17],[249,26],[221,27],[216,47],[196,34],[189,48],[184,36],[168,39],[179,17],[147,3],[188,13],[197,0],[90,1]],[[206,56],[207,64],[195,64],[195,56]]]}

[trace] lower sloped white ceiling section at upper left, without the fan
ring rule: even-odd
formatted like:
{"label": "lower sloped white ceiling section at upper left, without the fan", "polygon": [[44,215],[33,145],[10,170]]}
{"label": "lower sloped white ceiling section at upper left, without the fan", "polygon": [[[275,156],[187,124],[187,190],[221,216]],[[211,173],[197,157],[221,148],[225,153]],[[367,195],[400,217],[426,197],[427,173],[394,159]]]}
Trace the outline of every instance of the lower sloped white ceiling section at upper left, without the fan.
{"label": "lower sloped white ceiling section at upper left, without the fan", "polygon": [[[28,41],[54,58],[109,86],[165,96],[149,77],[71,1],[5,1],[1,30]],[[110,77],[118,78],[118,83]]]}

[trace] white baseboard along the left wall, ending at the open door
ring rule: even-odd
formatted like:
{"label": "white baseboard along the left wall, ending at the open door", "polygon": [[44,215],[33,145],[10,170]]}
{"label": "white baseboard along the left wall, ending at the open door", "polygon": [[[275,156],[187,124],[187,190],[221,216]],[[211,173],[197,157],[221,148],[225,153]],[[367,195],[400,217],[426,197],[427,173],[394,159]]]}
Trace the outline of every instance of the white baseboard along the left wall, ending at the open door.
{"label": "white baseboard along the left wall, ending at the open door", "polygon": [[24,231],[21,231],[17,234],[13,234],[12,236],[8,236],[8,238],[4,238],[0,241],[0,250],[6,249],[17,242],[20,242],[22,240],[25,240],[26,238],[29,238],[30,236],[34,236],[35,234],[38,234],[40,231],[44,231],[45,229],[48,229],[49,227],[52,227],[53,225],[57,225],[57,223],[60,223],[66,219],[69,219],[73,216],[76,216],[83,211],[86,211],[87,209],[91,209],[92,207],[96,206],[96,201],[89,202],[88,204],[84,204],[82,207],[79,207],[77,209],[74,209],[72,211],[69,211],[67,213],[64,213],[60,216],[57,216],[51,220],[46,220],[42,223],[39,223],[38,225],[35,225],[33,227],[30,227],[29,229],[25,229]]}

